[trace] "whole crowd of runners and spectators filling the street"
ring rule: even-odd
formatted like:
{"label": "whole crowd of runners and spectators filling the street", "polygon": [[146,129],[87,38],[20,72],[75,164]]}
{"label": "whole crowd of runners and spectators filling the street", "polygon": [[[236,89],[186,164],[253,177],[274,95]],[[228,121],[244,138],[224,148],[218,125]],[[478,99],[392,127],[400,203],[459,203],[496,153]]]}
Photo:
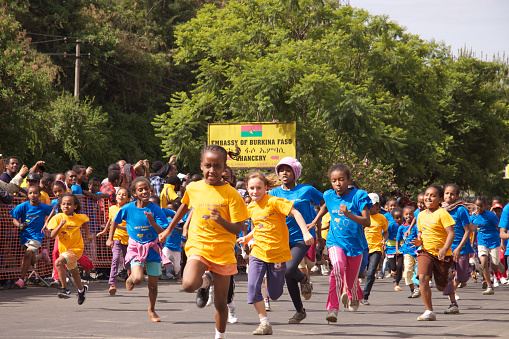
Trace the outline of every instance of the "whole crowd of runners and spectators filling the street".
{"label": "whole crowd of runners and spectators filling the street", "polygon": [[[178,173],[175,157],[152,164],[153,173],[146,160],[134,166],[121,160],[109,166],[103,181],[89,178],[90,167],[49,174],[42,161],[29,169],[20,168],[16,157],[5,159],[1,201],[27,198],[10,211],[25,251],[15,285],[23,288],[30,266],[45,260],[54,265],[58,297],[71,297],[67,270],[81,305],[88,286],[78,263],[91,268],[84,240],[104,241],[113,254],[110,295],[117,292],[122,269],[128,272],[128,291],[147,275],[148,315],[159,322],[158,280],[175,276],[184,291],[196,292],[198,307],[214,304],[215,337],[224,338],[227,323],[237,321],[233,296],[240,251],[248,260],[247,303],[260,320],[254,335],[272,334],[270,300],[283,294],[285,284],[295,308],[288,322],[306,318],[312,273],[329,276],[324,318],[332,323],[341,305],[351,312],[369,305],[377,279],[391,277],[399,292],[404,278],[408,298],[422,297],[419,321],[436,320],[433,286],[450,299],[444,313],[455,314],[457,289],[477,279],[476,272],[483,295],[508,283],[509,204],[503,207],[499,197],[463,201],[451,183],[428,187],[415,202],[387,199],[357,187],[343,164],[330,168],[332,188],[322,193],[297,182],[302,165],[295,158],[281,159],[274,173],[253,171],[244,178],[235,176],[227,158],[223,147],[205,146],[202,173],[193,176]],[[81,213],[80,195],[110,202],[108,222],[97,234]],[[55,239],[52,257],[41,250],[45,235]]]}

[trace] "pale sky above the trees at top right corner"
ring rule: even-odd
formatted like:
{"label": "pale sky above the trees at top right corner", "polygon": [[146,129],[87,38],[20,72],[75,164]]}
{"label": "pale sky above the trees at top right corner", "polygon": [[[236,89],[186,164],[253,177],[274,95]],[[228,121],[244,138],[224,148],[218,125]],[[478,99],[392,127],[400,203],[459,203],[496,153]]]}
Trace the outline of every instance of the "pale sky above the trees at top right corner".
{"label": "pale sky above the trees at top right corner", "polygon": [[509,58],[509,0],[350,0],[350,5],[388,15],[423,39],[444,41],[454,55],[466,47],[479,59],[492,60],[497,53]]}

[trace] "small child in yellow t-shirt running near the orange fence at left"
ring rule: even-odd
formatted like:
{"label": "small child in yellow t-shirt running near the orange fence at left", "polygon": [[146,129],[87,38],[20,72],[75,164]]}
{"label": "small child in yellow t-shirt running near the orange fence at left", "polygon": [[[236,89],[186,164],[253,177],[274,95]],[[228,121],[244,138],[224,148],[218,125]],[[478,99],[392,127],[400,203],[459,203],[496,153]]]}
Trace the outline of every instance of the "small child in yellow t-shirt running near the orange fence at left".
{"label": "small child in yellow t-shirt running near the orange fence at left", "polygon": [[65,267],[71,273],[76,287],[78,287],[78,305],[82,305],[86,299],[88,286],[81,283],[78,271],[78,259],[83,254],[85,244],[81,236],[81,228],[85,230],[87,240],[92,242],[93,235],[88,229],[88,217],[81,212],[81,204],[78,198],[72,193],[65,193],[60,198],[60,208],[63,213],[55,215],[48,223],[51,230],[51,238],[58,237],[58,251],[60,256],[55,261],[55,266],[60,277],[62,289],[58,293],[61,299],[69,299],[71,291],[67,289]]}

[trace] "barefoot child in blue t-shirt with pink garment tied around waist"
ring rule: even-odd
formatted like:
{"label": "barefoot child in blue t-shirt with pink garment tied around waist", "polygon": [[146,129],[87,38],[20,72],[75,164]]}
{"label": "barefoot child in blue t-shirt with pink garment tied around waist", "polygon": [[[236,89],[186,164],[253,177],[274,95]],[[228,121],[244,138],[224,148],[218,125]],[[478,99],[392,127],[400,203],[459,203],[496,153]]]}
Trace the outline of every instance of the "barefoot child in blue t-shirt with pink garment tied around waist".
{"label": "barefoot child in blue t-shirt with pink garment tied around waist", "polygon": [[131,275],[125,281],[128,291],[143,282],[143,268],[148,275],[148,315],[152,322],[160,322],[155,312],[157,299],[157,281],[161,275],[161,248],[158,234],[168,226],[166,215],[161,208],[150,202],[150,181],[146,177],[137,177],[131,183],[132,195],[138,200],[124,205],[111,224],[106,245],[113,247],[113,235],[118,225],[126,222],[129,245],[125,262],[131,265]]}

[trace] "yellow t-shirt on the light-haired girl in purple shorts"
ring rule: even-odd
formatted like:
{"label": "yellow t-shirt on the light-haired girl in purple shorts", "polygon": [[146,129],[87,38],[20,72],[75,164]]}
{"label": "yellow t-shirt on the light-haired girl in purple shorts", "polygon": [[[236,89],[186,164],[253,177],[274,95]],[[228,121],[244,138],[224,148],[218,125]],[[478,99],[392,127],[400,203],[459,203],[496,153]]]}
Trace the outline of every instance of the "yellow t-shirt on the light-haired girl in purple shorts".
{"label": "yellow t-shirt on the light-haired girl in purple shorts", "polygon": [[251,255],[268,263],[281,263],[292,259],[290,234],[286,226],[286,216],[293,202],[284,198],[265,195],[247,207],[254,227],[254,244]]}

